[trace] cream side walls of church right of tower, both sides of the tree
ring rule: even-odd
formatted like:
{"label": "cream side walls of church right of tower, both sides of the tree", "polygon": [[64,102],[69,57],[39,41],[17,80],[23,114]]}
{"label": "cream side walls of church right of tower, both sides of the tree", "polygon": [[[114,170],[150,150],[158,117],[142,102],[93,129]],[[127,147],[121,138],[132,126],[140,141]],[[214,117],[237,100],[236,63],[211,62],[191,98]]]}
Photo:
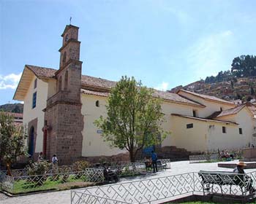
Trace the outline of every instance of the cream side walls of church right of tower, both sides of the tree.
{"label": "cream side walls of church right of tower, both sides of the tree", "polygon": [[[98,128],[94,125],[95,119],[98,119],[100,115],[106,117],[107,98],[82,94],[81,100],[84,116],[83,157],[110,156],[123,152],[117,148],[111,149],[97,133]],[[96,101],[99,101],[99,107],[95,105]],[[222,103],[220,103],[221,105],[211,104],[211,101],[206,101],[205,104],[211,106],[207,111],[216,111],[217,106],[222,106]],[[222,106],[222,109],[225,108],[230,108],[230,106]],[[237,122],[239,125],[171,116],[173,113],[192,116],[193,110],[195,110],[195,106],[163,101],[162,113],[165,114],[165,122],[162,124],[162,128],[171,134],[165,138],[162,146],[177,146],[192,152],[207,152],[217,149],[238,149],[248,145],[249,142],[252,144],[252,133],[253,127],[256,127],[256,119],[252,119],[246,109],[242,109],[233,119],[233,122]],[[202,115],[206,108],[197,108],[196,110],[198,114],[201,113]],[[208,115],[210,114],[212,112]],[[193,124],[193,128],[188,129],[187,124],[190,123]],[[222,133],[222,126],[226,127],[227,133]],[[239,134],[239,127],[242,128],[243,134]]]}

